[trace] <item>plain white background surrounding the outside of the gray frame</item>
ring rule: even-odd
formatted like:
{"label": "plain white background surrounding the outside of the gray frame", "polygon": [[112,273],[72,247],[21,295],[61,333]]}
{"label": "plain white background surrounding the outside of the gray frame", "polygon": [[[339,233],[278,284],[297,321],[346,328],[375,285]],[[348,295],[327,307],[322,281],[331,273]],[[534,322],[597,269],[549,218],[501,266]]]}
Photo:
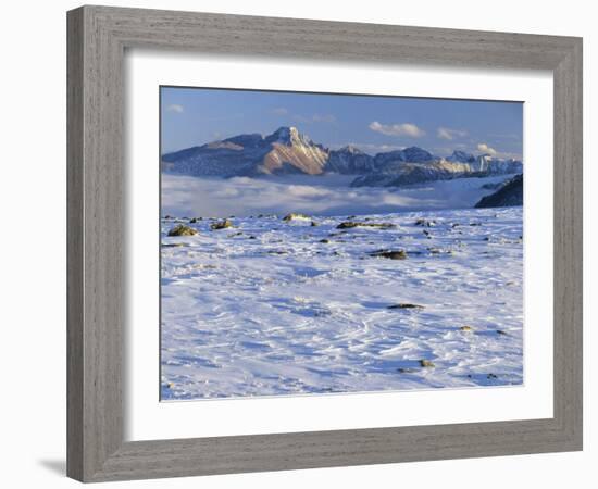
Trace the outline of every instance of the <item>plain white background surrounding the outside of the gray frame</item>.
{"label": "plain white background surrounding the outside of the gray frame", "polygon": [[[596,195],[595,147],[598,131],[593,3],[502,0],[425,2],[322,2],[302,0],[111,1],[146,7],[252,15],[294,16],[510,30],[584,37],[585,135],[585,451],[548,455],[424,462],[129,482],[127,487],[304,488],[402,486],[443,488],[589,487],[596,477],[598,429],[591,413],[597,380],[593,375],[598,321],[598,246],[590,228]],[[0,223],[0,449],[3,487],[74,487],[64,477],[65,453],[65,11],[77,1],[4,2],[0,18],[0,135],[2,174]],[[596,221],[594,218],[594,221]],[[594,399],[591,399],[594,398]],[[584,480],[588,480],[584,484]],[[107,485],[105,487],[116,487]],[[120,486],[121,487],[121,486]]]}

